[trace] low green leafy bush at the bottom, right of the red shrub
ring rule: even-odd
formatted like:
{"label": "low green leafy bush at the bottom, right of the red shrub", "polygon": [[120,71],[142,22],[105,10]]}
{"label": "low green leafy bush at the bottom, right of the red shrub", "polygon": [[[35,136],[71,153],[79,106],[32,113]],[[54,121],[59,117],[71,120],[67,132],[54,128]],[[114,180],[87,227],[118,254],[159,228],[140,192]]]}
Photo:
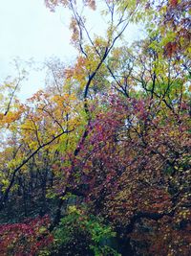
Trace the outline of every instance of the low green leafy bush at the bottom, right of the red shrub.
{"label": "low green leafy bush at the bottom, right of the red shrub", "polygon": [[75,206],[69,206],[53,233],[55,255],[119,255],[108,245],[116,236],[112,228]]}

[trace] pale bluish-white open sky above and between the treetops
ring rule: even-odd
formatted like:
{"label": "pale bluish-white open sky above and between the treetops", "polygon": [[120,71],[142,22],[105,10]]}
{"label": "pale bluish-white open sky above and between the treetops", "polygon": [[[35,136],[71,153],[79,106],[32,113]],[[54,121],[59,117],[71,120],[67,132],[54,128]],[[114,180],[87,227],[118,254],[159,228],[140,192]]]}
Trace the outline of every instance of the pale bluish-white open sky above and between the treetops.
{"label": "pale bluish-white open sky above and between the treetops", "polygon": [[[0,82],[14,76],[14,58],[32,58],[39,65],[53,57],[72,61],[76,51],[70,45],[69,19],[69,13],[61,8],[50,12],[44,0],[0,0]],[[91,19],[92,30],[100,32],[102,20],[93,13]],[[128,30],[130,38],[135,33],[135,28]],[[27,99],[43,88],[44,78],[44,71],[31,70],[28,81],[22,83],[20,97]]]}

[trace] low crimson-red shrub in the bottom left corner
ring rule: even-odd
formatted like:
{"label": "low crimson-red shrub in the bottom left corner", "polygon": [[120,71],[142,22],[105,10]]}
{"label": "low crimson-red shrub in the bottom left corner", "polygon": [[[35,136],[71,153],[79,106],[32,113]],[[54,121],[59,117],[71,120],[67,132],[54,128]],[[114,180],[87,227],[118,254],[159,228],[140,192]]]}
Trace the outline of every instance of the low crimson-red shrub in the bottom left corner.
{"label": "low crimson-red shrub in the bottom left corner", "polygon": [[49,224],[49,218],[44,217],[1,225],[1,255],[49,255],[49,246],[53,243]]}

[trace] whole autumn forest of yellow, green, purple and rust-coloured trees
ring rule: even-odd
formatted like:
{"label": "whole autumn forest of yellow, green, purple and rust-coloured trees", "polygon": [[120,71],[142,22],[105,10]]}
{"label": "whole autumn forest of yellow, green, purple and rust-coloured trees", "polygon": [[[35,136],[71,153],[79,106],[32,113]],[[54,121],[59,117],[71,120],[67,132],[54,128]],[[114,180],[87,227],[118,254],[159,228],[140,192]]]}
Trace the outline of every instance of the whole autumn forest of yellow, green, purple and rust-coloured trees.
{"label": "whole autumn forest of yellow, green, purple and rust-coloured trees", "polygon": [[191,255],[190,1],[46,8],[77,56],[25,103],[24,73],[0,84],[0,256]]}

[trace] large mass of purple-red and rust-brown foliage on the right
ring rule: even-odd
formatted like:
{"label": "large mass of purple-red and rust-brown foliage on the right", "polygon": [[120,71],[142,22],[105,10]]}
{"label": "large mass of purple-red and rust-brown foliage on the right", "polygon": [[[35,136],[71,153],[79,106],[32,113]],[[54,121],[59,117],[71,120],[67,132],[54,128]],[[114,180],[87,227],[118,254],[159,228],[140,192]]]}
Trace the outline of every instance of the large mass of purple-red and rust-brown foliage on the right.
{"label": "large mass of purple-red and rust-brown foliage on the right", "polygon": [[122,102],[113,98],[111,112],[99,115],[89,142],[94,148],[82,153],[89,155],[88,199],[129,234],[138,255],[188,255],[188,116],[152,119],[148,100]]}

